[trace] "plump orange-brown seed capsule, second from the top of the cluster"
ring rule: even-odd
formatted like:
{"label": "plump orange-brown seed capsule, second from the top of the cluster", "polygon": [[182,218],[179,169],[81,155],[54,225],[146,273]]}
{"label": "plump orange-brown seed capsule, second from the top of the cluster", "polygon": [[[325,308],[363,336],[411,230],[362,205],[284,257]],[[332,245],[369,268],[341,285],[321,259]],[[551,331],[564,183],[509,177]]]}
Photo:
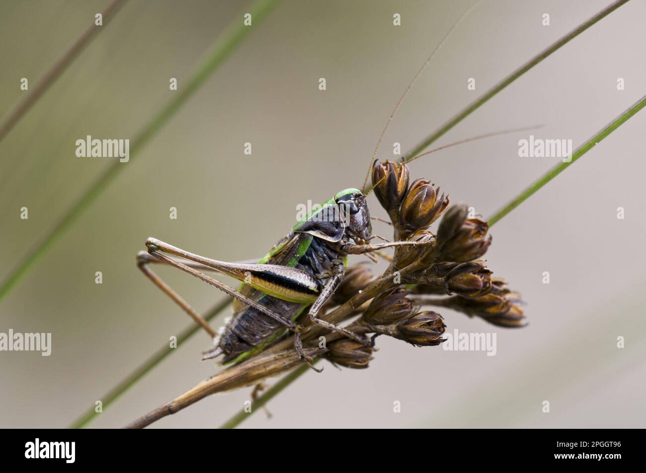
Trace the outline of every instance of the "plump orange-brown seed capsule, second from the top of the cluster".
{"label": "plump orange-brown seed capsule, second from the top of the cluster", "polygon": [[449,205],[444,192],[438,197],[435,188],[426,179],[413,181],[401,206],[401,218],[406,230],[428,228]]}

